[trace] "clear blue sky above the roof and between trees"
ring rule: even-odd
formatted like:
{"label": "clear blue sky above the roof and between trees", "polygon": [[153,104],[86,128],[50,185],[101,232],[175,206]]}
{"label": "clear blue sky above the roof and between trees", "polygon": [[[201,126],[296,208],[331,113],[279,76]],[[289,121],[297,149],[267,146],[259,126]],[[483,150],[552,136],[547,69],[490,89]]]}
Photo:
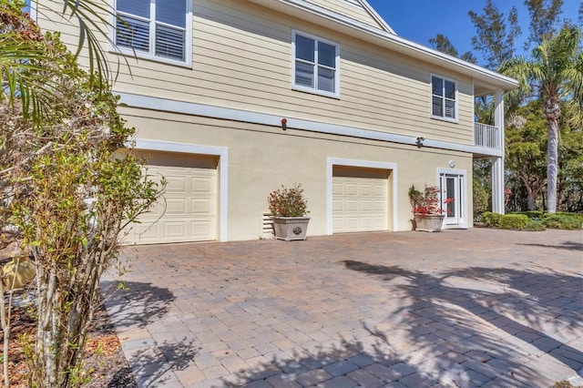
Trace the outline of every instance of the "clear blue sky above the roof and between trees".
{"label": "clear blue sky above the roof and between trees", "polygon": [[[563,14],[559,17],[577,22],[580,1],[564,0]],[[476,35],[476,29],[467,13],[473,10],[481,14],[486,0],[368,0],[368,3],[383,16],[398,36],[431,46],[429,38],[443,34],[449,37],[461,55],[472,50],[471,39]],[[505,16],[513,5],[517,6],[518,21],[522,28],[522,40],[517,45],[517,50],[522,54],[522,42],[528,35],[529,23],[524,0],[495,0],[494,4]]]}

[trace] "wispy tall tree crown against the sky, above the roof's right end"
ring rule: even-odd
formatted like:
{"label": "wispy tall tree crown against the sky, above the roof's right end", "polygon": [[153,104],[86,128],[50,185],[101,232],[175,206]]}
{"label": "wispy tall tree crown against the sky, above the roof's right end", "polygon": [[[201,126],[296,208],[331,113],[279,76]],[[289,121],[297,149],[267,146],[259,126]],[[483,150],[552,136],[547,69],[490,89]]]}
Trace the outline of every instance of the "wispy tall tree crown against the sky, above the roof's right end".
{"label": "wispy tall tree crown against the sky, above the roof's right end", "polygon": [[504,14],[492,0],[487,0],[483,11],[481,15],[474,11],[468,13],[477,33],[477,36],[472,37],[472,45],[484,56],[486,67],[494,70],[515,55],[517,37],[522,31],[518,26],[516,6],[510,9],[507,30]]}

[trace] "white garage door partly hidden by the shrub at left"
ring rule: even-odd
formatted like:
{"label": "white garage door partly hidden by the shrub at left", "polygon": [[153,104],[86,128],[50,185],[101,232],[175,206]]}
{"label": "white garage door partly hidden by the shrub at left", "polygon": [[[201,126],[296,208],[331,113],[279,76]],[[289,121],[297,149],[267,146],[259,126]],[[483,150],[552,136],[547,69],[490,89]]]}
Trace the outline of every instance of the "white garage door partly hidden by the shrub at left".
{"label": "white garage door partly hidden by the shrub at left", "polygon": [[133,226],[128,240],[137,244],[217,240],[216,162],[157,153],[149,163],[148,175],[164,177],[166,191],[139,217],[141,223]]}

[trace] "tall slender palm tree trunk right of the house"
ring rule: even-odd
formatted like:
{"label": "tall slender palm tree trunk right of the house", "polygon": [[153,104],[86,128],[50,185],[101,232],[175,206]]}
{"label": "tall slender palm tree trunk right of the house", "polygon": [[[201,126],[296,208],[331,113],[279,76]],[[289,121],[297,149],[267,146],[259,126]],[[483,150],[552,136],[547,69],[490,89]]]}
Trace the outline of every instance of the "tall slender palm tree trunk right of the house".
{"label": "tall slender palm tree trunk right of the house", "polygon": [[547,211],[557,212],[557,174],[558,174],[558,118],[561,110],[558,98],[549,98],[545,106],[547,116]]}

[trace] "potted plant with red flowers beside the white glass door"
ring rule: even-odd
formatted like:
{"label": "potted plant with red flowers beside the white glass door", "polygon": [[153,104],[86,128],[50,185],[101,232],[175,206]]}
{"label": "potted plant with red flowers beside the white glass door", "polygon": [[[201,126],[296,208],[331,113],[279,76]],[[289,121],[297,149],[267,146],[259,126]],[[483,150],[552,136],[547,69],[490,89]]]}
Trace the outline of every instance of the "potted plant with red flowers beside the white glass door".
{"label": "potted plant with red flowers beside the white glass door", "polygon": [[[409,189],[409,200],[414,214],[414,230],[443,230],[445,209],[439,203],[439,192],[436,186],[427,185],[423,191],[415,189],[414,186]],[[448,198],[443,203],[446,205],[453,200],[453,198]]]}

